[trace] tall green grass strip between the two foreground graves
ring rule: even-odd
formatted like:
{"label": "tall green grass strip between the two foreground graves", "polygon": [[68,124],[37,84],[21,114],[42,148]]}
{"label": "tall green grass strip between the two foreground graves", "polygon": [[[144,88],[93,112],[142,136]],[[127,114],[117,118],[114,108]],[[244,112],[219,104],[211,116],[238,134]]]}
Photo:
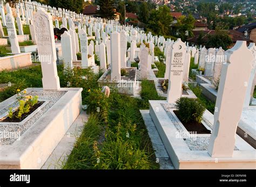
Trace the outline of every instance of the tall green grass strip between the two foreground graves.
{"label": "tall green grass strip between the two foreground graves", "polygon": [[111,92],[108,100],[108,123],[91,114],[63,169],[158,169],[139,99]]}

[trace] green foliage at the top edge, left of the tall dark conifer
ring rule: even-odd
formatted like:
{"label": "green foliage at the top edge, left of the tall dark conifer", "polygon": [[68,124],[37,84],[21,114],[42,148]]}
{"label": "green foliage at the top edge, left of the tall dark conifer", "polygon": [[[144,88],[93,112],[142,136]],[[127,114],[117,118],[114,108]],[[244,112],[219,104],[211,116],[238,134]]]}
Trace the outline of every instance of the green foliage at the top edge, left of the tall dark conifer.
{"label": "green foliage at the top edge, left of the tall dark conifer", "polygon": [[81,13],[83,11],[83,2],[83,0],[49,0],[49,5]]}

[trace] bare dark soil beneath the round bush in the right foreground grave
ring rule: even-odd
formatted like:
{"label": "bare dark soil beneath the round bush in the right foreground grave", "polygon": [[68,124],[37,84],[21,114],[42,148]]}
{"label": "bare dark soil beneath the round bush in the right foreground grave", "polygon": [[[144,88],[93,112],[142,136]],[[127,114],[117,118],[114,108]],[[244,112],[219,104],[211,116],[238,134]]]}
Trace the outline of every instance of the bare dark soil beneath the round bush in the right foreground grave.
{"label": "bare dark soil beneath the round bush in the right foreground grave", "polygon": [[181,121],[181,123],[184,125],[186,130],[191,133],[197,133],[197,134],[211,134],[210,130],[207,130],[207,128],[202,123],[197,123],[196,121],[185,123],[183,120],[179,117],[179,112],[177,110],[173,111],[178,119]]}

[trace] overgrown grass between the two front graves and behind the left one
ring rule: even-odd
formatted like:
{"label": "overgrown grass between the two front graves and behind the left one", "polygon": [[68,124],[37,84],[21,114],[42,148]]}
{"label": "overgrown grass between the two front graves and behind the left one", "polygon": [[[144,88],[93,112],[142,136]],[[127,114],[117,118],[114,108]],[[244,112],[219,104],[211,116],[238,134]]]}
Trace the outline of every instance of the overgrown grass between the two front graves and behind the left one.
{"label": "overgrown grass between the two front graves and behind the left one", "polygon": [[[90,117],[84,125],[82,135],[75,146],[64,169],[158,169],[156,156],[151,145],[144,121],[139,112],[149,109],[148,100],[160,98],[151,81],[142,81],[142,99],[132,98],[111,92],[110,98],[105,98],[100,92],[97,80],[102,74],[95,75],[88,69],[74,68],[63,70],[63,65],[57,66],[60,85],[83,88],[83,104],[90,108],[100,107],[100,112],[90,111]],[[83,75],[87,80],[82,80]],[[15,71],[1,71],[0,84],[11,82],[0,92],[0,102],[17,93],[17,89],[41,88],[41,66]],[[129,133],[129,135],[127,134]],[[97,158],[100,157],[100,164]],[[120,162],[122,161],[122,162]]]}

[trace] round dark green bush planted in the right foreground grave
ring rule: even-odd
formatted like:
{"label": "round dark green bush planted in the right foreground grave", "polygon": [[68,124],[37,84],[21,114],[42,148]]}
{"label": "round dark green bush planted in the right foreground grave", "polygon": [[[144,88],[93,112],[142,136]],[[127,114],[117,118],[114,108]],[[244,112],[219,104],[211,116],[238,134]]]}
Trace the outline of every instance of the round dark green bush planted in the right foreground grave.
{"label": "round dark green bush planted in the right foreground grave", "polygon": [[201,123],[205,107],[197,99],[181,97],[176,101],[179,118],[185,123],[196,121]]}

